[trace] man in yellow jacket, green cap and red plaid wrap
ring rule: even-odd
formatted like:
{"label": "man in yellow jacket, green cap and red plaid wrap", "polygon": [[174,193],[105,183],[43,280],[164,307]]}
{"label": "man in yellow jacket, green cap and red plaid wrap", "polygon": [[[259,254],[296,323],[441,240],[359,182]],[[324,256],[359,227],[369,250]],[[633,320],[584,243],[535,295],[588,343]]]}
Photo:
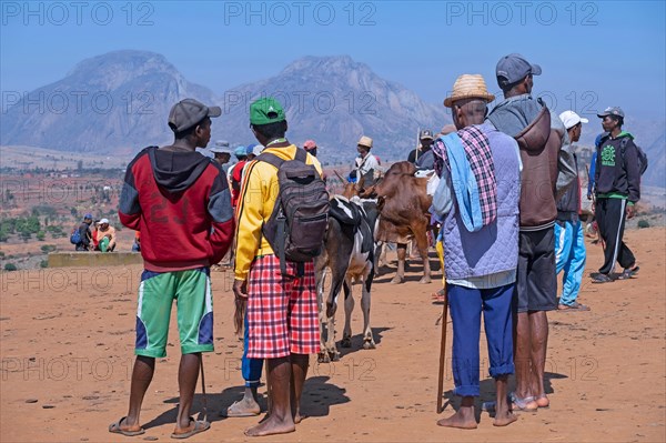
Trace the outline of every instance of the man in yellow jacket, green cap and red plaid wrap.
{"label": "man in yellow jacket, green cap and red plaid wrap", "polygon": [[[296,147],[284,137],[287,124],[282,105],[272,98],[250,105],[250,127],[264,152],[293,160]],[[321,164],[306,163],[321,174]],[[302,276],[283,279],[280,259],[262,235],[279,194],[278,169],[264,161],[245,167],[236,207],[236,253],[233,292],[248,299],[248,358],[268,360],[271,396],[269,416],[246,435],[293,432],[301,420],[299,406],[307,374],[309,354],[320,349],[314,261],[303,263]],[[296,274],[296,263],[286,262]],[[293,402],[293,404],[292,404]]]}

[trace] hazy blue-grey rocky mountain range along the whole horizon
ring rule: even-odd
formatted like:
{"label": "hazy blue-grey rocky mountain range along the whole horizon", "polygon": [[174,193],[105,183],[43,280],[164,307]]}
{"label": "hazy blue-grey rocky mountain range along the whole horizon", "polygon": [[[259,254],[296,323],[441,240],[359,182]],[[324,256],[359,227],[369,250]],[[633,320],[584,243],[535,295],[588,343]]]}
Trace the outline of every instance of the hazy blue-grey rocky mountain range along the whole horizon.
{"label": "hazy blue-grey rocky mountain range along the whole horizon", "polygon": [[[213,140],[248,144],[254,142],[249,105],[266,94],[285,105],[290,140],[297,144],[316,140],[325,162],[351,163],[362,134],[374,139],[374,152],[382,159],[402,160],[414,148],[418,128],[436,132],[451,122],[441,102],[427,103],[347,56],[305,57],[272,78],[216,95],[188,81],[159,53],[124,50],[83,60],[62,80],[31,91],[9,108],[2,115],[0,144],[130,155],[171,141],[169,110],[188,97],[222,107]],[[666,187],[664,121],[628,117],[625,128],[649,158],[644,183]],[[599,122],[592,118],[581,145],[592,145],[598,132]]]}

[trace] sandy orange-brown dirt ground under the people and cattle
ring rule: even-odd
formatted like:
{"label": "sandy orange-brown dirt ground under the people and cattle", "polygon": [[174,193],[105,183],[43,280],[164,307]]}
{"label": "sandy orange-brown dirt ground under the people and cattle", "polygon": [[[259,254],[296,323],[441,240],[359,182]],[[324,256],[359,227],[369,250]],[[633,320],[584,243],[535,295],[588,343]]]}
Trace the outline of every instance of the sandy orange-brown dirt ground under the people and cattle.
{"label": "sandy orange-brown dirt ground under the people and cattle", "polygon": [[[508,427],[481,413],[475,431],[436,426],[453,411],[435,413],[442,306],[431,302],[440,288],[418,284],[413,265],[407,282],[392,285],[392,270],[373,288],[375,350],[361,343],[360,303],[352,349],[333,364],[312,365],[303,395],[307,415],[295,433],[263,439],[287,442],[664,442],[666,441],[666,230],[626,233],[640,264],[638,278],[593,285],[588,272],[602,262],[588,243],[588,265],[579,301],[591,312],[548,315],[546,365],[551,409],[521,414]],[[434,256],[434,255],[433,255]],[[434,260],[433,260],[434,262]],[[108,425],[127,414],[134,312],[140,266],[50,269],[1,274],[0,441],[169,441],[178,405],[179,342],[171,323],[169,356],[157,363],[147,394],[142,436],[112,435]],[[436,273],[437,274],[437,273]],[[245,441],[258,419],[224,419],[240,397],[242,344],[233,334],[231,274],[212,274],[215,352],[205,354],[210,431],[191,441]],[[355,293],[360,288],[354,288]],[[341,311],[342,312],[342,311]],[[339,313],[339,330],[342,319]],[[445,396],[452,399],[451,325]],[[482,399],[492,400],[482,334]],[[261,389],[262,392],[264,387]],[[198,389],[195,410],[200,410]],[[264,401],[265,404],[265,401]]]}

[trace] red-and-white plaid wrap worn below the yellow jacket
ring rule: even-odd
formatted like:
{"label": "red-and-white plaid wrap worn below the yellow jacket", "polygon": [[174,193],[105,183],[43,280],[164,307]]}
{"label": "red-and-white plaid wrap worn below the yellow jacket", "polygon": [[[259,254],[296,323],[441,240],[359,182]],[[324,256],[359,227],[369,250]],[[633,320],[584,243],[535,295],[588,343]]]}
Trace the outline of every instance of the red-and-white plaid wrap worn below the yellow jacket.
{"label": "red-and-white plaid wrap worn below the yellow jacket", "polygon": [[[248,279],[248,358],[279,359],[320,351],[314,262],[303,266],[303,276],[283,279],[275,255],[252,262]],[[287,262],[286,271],[295,275],[296,263]]]}

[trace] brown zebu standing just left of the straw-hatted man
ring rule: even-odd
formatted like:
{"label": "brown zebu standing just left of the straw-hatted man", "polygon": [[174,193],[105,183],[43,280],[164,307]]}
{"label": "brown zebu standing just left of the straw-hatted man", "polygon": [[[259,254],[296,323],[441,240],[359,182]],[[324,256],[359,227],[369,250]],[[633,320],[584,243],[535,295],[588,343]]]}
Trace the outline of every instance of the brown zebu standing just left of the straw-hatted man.
{"label": "brown zebu standing just left of the straw-hatted man", "polygon": [[380,229],[377,241],[397,243],[397,272],[392,283],[402,283],[405,274],[407,241],[413,238],[423,261],[423,278],[420,283],[431,282],[427,259],[430,207],[427,178],[416,178],[414,164],[401,161],[393,163],[375,184],[360,190],[362,197],[376,197],[380,202]]}

